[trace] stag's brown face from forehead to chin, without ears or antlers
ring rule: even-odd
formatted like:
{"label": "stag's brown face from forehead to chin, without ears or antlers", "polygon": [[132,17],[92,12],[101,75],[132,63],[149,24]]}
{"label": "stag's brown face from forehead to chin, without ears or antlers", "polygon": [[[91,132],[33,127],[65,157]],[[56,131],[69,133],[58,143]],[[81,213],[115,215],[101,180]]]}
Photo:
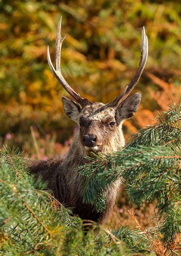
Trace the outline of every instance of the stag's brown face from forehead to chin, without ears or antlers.
{"label": "stag's brown face from forehead to chin, without ears or antlers", "polygon": [[82,109],[78,120],[80,140],[87,151],[102,150],[115,132],[115,111],[102,103]]}

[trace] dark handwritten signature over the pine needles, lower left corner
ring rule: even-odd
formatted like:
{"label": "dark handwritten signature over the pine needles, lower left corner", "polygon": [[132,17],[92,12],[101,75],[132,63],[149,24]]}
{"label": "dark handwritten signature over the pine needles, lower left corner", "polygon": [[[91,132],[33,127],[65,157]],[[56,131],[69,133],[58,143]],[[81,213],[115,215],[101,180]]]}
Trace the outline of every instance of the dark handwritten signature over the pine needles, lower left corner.
{"label": "dark handwritten signature over the pine needles, lower left corner", "polygon": [[31,247],[32,249],[34,249],[34,251],[36,251],[36,249],[32,247],[32,244],[25,239],[25,236],[28,233],[28,229],[23,229],[21,230],[21,232],[16,233],[16,228],[18,227],[18,225],[19,223],[13,228],[4,226],[3,231],[5,233],[8,233],[8,235],[10,236],[12,235],[12,239],[18,242],[19,245],[27,245],[28,247]]}

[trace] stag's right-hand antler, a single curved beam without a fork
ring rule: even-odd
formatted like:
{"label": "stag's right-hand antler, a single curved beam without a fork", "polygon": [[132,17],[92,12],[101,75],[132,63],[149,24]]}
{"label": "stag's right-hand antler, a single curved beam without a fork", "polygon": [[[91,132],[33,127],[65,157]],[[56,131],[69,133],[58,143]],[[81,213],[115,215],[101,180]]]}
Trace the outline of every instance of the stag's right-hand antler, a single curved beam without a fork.
{"label": "stag's right-hand antler, a single curved beam without a fork", "polygon": [[118,108],[121,103],[127,98],[129,93],[133,90],[134,86],[137,84],[139,78],[141,77],[141,74],[144,70],[146,61],[147,61],[147,56],[148,56],[148,39],[145,34],[145,28],[143,27],[142,29],[142,34],[141,34],[141,58],[139,61],[139,67],[137,69],[136,74],[134,75],[133,80],[131,83],[126,86],[124,91],[116,98],[114,99],[111,103],[107,104],[109,107],[112,108]]}

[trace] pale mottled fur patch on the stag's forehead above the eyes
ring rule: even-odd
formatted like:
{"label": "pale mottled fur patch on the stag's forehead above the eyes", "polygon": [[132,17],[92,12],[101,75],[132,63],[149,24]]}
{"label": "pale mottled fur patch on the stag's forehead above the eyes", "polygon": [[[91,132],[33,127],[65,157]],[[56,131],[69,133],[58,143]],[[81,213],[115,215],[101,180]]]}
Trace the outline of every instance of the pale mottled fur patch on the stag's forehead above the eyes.
{"label": "pale mottled fur patch on the stag's forehead above the eyes", "polygon": [[82,116],[97,121],[101,120],[102,117],[114,115],[115,110],[113,108],[108,108],[101,102],[96,102],[91,106],[86,106],[82,109]]}

